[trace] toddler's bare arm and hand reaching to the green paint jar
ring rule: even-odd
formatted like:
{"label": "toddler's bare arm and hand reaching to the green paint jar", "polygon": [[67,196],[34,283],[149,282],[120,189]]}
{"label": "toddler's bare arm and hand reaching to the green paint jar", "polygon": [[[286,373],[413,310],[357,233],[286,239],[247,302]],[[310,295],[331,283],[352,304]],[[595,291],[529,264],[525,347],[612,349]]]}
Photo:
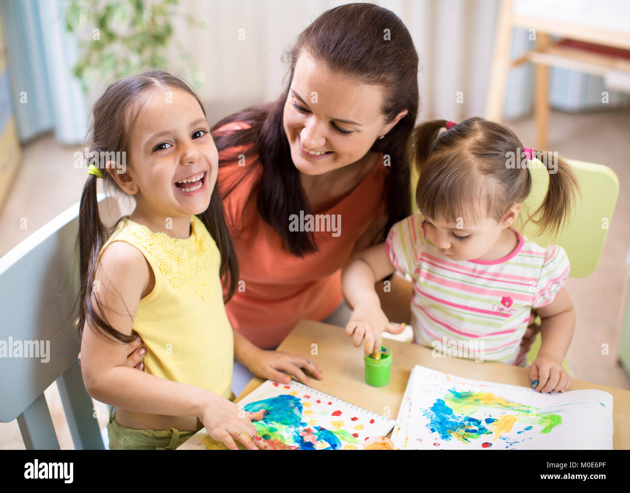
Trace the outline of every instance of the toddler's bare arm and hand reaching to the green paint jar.
{"label": "toddler's bare arm and hand reaching to the green paint jar", "polygon": [[391,275],[396,269],[389,261],[384,243],[374,245],[353,256],[341,271],[341,286],[348,303],[354,308],[346,326],[348,337],[354,336],[358,348],[365,339],[365,354],[381,348],[381,334],[400,334],[404,324],[392,324],[381,309],[381,300],[374,283]]}

